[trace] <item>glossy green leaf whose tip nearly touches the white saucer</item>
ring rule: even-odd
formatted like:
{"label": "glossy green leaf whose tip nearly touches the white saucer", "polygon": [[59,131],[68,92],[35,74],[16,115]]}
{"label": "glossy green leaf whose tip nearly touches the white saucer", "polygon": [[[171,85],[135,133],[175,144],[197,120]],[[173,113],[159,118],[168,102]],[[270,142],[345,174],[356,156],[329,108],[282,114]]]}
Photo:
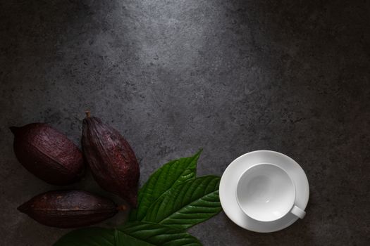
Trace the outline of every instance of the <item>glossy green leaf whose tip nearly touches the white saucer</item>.
{"label": "glossy green leaf whose tip nearly touches the white saucer", "polygon": [[181,183],[149,207],[143,221],[186,229],[221,211],[218,176],[203,176]]}

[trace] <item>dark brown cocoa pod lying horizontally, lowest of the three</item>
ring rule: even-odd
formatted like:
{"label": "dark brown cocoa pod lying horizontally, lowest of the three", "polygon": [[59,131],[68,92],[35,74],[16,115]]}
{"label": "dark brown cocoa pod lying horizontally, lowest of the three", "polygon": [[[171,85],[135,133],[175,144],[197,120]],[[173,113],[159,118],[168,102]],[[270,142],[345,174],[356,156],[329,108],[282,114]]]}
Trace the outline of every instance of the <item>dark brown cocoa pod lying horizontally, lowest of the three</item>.
{"label": "dark brown cocoa pod lying horizontally, lowest of the three", "polygon": [[18,207],[20,212],[45,226],[90,226],[118,212],[114,202],[82,190],[54,190],[36,195]]}

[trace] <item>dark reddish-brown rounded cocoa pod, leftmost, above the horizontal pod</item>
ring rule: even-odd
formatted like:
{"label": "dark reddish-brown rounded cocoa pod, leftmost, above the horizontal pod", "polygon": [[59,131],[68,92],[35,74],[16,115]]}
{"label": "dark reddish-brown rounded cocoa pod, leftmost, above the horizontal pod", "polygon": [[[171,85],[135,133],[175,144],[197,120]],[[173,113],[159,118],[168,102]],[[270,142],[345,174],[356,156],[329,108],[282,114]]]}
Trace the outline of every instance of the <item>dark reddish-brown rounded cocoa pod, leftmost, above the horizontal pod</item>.
{"label": "dark reddish-brown rounded cocoa pod, leftmost, above the horizontal pod", "polygon": [[44,123],[11,127],[14,153],[28,171],[47,183],[68,185],[81,178],[80,149],[65,135]]}

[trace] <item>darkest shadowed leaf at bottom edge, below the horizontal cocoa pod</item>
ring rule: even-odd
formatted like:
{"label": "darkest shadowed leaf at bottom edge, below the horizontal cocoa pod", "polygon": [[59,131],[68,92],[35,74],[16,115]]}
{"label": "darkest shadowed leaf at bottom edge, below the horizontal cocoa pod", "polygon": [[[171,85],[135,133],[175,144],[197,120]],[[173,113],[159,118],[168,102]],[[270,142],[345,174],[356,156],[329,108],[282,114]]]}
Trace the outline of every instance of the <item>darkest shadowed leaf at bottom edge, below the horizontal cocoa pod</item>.
{"label": "darkest shadowed leaf at bottom edge, below the horizontal cocoa pod", "polygon": [[114,230],[89,227],[63,235],[54,246],[116,246]]}

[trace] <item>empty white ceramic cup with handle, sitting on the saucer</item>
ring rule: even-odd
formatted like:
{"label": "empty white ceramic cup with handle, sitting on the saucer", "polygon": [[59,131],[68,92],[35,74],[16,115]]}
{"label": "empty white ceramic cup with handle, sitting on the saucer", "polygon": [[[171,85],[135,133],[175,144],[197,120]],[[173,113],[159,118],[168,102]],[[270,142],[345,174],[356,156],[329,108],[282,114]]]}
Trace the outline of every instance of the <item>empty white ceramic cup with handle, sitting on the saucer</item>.
{"label": "empty white ceramic cup with handle, sitting on the saucer", "polygon": [[257,221],[276,221],[289,212],[303,219],[306,214],[294,205],[295,184],[276,164],[249,167],[238,181],[236,200],[240,209]]}

